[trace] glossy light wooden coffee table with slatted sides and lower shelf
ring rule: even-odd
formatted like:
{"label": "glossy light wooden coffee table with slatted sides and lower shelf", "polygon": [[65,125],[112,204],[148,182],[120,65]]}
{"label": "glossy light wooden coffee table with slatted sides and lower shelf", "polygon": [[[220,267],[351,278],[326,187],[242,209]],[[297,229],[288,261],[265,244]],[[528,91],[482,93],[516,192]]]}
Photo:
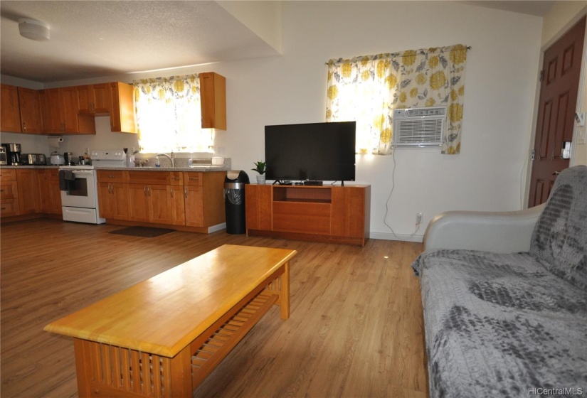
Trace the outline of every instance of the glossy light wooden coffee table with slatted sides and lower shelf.
{"label": "glossy light wooden coffee table with slatted sides and lower shelf", "polygon": [[45,330],[73,337],[80,397],[191,397],[273,306],[295,250],[225,244]]}

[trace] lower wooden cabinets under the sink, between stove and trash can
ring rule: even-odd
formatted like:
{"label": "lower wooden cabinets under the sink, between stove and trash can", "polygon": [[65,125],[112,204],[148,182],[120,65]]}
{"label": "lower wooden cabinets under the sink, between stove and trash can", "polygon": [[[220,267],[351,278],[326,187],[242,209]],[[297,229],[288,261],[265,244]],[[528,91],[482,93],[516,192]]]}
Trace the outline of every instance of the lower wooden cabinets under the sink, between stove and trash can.
{"label": "lower wooden cabinets under the sink, between stove and trash can", "polygon": [[226,172],[98,170],[100,217],[195,228],[222,224]]}

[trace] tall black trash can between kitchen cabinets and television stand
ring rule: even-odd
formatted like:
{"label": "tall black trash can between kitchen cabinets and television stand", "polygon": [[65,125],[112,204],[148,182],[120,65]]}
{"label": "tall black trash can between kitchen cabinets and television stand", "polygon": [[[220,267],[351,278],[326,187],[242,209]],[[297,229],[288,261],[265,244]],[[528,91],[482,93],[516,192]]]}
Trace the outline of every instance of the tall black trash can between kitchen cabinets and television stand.
{"label": "tall black trash can between kitchen cabinets and television stand", "polygon": [[244,234],[247,232],[245,222],[245,185],[249,183],[248,175],[242,170],[231,170],[224,178],[224,208],[226,211],[226,233]]}

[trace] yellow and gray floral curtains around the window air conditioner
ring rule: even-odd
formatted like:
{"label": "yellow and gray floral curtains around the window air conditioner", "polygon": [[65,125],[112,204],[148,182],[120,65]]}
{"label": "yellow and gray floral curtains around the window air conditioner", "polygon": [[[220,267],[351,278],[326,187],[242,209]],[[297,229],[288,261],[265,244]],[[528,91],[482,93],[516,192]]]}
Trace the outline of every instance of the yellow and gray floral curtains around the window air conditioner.
{"label": "yellow and gray floral curtains around the window air conditioner", "polygon": [[442,153],[458,154],[466,60],[461,44],[329,60],[326,120],[356,120],[357,153],[388,155],[393,109],[446,106]]}

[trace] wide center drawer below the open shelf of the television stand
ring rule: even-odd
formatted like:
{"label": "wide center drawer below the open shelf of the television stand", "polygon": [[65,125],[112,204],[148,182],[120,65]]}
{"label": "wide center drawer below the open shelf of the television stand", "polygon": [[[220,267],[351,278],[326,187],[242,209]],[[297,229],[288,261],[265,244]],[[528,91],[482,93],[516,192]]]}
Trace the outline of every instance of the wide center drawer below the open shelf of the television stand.
{"label": "wide center drawer below the open shelf of the television stand", "polygon": [[273,230],[330,235],[330,204],[273,202]]}

